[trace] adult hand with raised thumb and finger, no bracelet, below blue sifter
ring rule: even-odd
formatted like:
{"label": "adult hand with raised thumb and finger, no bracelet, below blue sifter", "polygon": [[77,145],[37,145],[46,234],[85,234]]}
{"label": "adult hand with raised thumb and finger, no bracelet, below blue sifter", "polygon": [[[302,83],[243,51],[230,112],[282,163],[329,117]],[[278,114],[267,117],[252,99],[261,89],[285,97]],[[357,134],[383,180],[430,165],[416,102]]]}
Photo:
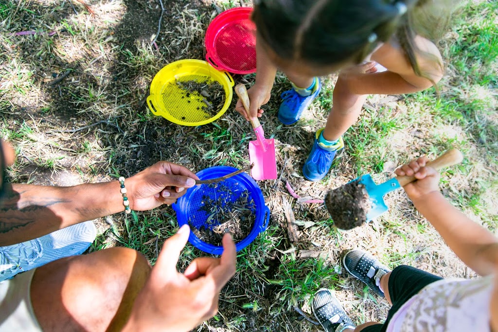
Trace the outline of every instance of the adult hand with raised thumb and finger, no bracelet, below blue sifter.
{"label": "adult hand with raised thumb and finger, no bracelet, below blue sifter", "polygon": [[182,274],[176,264],[189,232],[184,225],[164,242],[124,331],[187,332],[217,313],[219,293],[236,271],[235,244],[225,234],[221,258],[196,258]]}

